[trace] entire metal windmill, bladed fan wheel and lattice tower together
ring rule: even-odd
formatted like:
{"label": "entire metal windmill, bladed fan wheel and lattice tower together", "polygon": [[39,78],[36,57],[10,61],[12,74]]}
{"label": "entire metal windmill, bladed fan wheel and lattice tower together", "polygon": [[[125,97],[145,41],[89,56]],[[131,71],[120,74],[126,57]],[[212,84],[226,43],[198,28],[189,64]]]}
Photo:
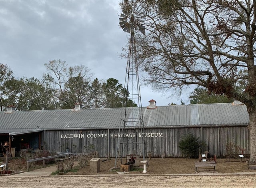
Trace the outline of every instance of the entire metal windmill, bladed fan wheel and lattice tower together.
{"label": "entire metal windmill, bladed fan wheel and lattice tower together", "polygon": [[[140,83],[138,62],[136,56],[136,40],[134,32],[139,30],[145,35],[145,26],[141,24],[144,18],[142,8],[134,7],[130,15],[120,15],[122,30],[130,33],[126,77],[123,93],[121,122],[116,145],[116,161],[127,155],[140,155],[145,160],[146,143],[144,139],[144,122],[140,97]],[[127,107],[128,103],[137,104],[137,107]],[[140,137],[138,137],[140,135]]]}

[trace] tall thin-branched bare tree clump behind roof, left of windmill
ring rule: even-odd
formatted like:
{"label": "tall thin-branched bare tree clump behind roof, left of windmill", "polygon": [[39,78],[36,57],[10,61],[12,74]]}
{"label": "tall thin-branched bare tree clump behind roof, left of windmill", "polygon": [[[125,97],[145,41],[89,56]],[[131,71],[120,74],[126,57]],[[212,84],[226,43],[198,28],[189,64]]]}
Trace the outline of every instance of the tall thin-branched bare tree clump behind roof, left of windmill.
{"label": "tall thin-branched bare tree clump behind roof, left of windmill", "polygon": [[89,108],[90,79],[93,76],[90,69],[83,65],[67,68],[66,62],[61,60],[52,60],[44,65],[48,71],[44,74],[44,80],[56,88],[56,104],[59,104],[60,108],[70,109],[75,103]]}

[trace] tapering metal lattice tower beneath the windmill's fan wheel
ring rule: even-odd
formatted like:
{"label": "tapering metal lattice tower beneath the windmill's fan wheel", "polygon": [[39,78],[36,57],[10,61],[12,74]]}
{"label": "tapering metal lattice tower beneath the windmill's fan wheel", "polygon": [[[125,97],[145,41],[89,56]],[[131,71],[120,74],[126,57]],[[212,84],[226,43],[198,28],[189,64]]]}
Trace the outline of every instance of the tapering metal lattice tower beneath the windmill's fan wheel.
{"label": "tapering metal lattice tower beneath the windmill's fan wheel", "polygon": [[138,62],[136,58],[136,41],[132,30],[121,111],[121,122],[118,133],[120,137],[118,137],[116,144],[115,166],[118,160],[120,160],[121,164],[124,163],[122,161],[123,157],[136,155],[141,156],[145,160],[146,155]]}

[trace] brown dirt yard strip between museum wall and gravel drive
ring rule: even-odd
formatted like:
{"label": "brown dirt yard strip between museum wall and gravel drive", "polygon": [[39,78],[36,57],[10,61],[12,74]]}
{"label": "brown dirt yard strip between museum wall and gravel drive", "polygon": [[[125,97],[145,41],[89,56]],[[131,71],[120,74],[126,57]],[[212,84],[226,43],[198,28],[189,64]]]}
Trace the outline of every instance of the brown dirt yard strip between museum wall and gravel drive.
{"label": "brown dirt yard strip between museum wall and gravel drive", "polygon": [[[88,175],[88,174],[116,174],[120,171],[121,161],[117,160],[115,167],[115,158],[111,160],[106,160],[106,158],[100,158],[100,172],[93,173],[90,171],[90,166],[86,168],[79,168],[79,166],[74,165],[74,169],[77,172],[68,172],[65,175]],[[138,159],[141,161],[143,159]],[[149,160],[149,159],[148,159]],[[126,162],[126,158],[122,159],[122,164]],[[195,158],[152,158],[148,162],[147,173],[148,174],[188,174],[195,173],[195,162],[198,159]],[[76,163],[77,164],[77,163]],[[134,170],[129,172],[129,174],[141,174],[143,171],[143,164],[138,163],[138,167],[134,167]],[[89,165],[89,164],[88,164]],[[42,167],[42,166],[41,166]],[[26,171],[26,162],[22,162],[20,159],[9,160],[8,168],[10,170],[22,170]],[[36,166],[40,168],[40,166]],[[30,168],[30,170],[33,170]],[[213,172],[213,168],[198,170],[198,172]],[[248,169],[248,164],[245,160],[240,162],[240,159],[230,159],[230,162],[226,162],[226,158],[217,158],[216,172],[218,173],[234,173],[234,172],[256,172],[256,170]]]}

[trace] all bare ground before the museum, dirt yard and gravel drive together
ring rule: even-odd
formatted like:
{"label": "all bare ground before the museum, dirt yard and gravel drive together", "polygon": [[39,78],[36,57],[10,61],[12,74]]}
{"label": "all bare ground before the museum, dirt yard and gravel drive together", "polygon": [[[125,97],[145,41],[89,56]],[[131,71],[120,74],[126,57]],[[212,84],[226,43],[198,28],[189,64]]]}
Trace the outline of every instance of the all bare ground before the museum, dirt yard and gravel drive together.
{"label": "all bare ground before the museum, dirt yard and gravel drive together", "polygon": [[[147,173],[142,173],[143,165],[140,164],[134,171],[127,174],[118,174],[119,169],[114,168],[115,159],[102,162],[100,159],[100,172],[92,173],[90,166],[79,168],[76,172],[68,172],[65,175],[46,177],[14,177],[0,176],[1,187],[256,187],[256,175],[250,172],[245,161],[239,159],[217,158],[216,172],[212,169],[195,172],[194,162],[197,159],[185,158],[152,158],[147,166]],[[126,159],[123,159],[123,162]],[[141,159],[139,159],[141,160]],[[120,161],[118,161],[119,163]],[[120,164],[120,163],[119,163]],[[119,165],[117,164],[117,165]],[[22,165],[19,164],[19,168]],[[9,162],[9,169],[14,170],[18,164]],[[24,164],[26,167],[26,164]],[[26,168],[25,168],[26,169]],[[206,172],[210,175],[206,176]],[[248,172],[241,175],[239,172]],[[190,174],[191,173],[191,174]],[[237,174],[222,174],[237,173]],[[168,175],[172,174],[172,175]],[[188,174],[188,175],[184,175]],[[3,178],[4,177],[4,178]]]}

